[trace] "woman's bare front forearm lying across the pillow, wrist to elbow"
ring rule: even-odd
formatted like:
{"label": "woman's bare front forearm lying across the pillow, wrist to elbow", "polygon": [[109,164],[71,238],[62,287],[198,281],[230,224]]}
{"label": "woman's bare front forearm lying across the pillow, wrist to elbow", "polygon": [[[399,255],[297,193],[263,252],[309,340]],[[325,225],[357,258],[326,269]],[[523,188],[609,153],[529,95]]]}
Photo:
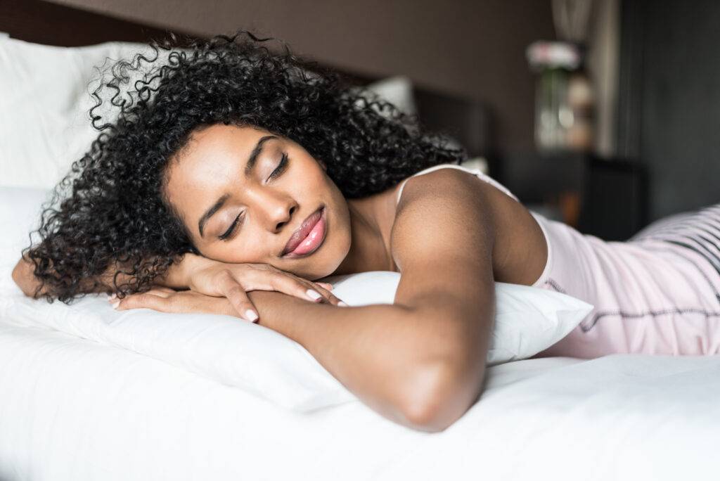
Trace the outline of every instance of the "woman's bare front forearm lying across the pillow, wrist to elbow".
{"label": "woman's bare front forearm lying across the pillow, wrist to elbow", "polygon": [[377,412],[426,430],[415,406],[445,376],[446,353],[423,337],[413,311],[399,305],[313,304],[279,292],[248,294],[258,307],[259,324],[300,343]]}

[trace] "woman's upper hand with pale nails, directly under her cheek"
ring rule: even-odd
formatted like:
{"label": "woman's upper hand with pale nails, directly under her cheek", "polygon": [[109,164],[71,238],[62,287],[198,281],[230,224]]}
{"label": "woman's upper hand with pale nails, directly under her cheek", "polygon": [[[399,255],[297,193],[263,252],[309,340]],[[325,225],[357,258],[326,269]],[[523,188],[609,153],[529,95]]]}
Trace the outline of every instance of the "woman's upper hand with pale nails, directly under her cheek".
{"label": "woman's upper hand with pale nails, directly under her cheek", "polygon": [[324,282],[311,282],[277,269],[270,264],[227,264],[194,254],[184,259],[184,281],[194,292],[226,297],[235,308],[233,315],[255,321],[257,310],[248,298],[253,290],[277,291],[312,302],[346,305],[334,296],[333,287]]}

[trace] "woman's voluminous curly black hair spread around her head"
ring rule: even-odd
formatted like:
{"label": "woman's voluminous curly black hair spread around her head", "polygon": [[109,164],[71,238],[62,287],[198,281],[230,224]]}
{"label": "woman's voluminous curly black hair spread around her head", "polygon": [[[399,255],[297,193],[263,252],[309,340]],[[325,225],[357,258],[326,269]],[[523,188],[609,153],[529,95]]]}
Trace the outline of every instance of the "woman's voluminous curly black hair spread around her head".
{"label": "woman's voluminous curly black hair spread around her head", "polygon": [[[198,127],[251,125],[293,140],[325,163],[346,198],[467,158],[444,135],[426,132],[417,116],[294,55],[284,42],[271,50],[272,40],[238,30],[185,38],[189,47],[178,48],[171,34],[150,42],[155,58],[137,53],[112,65],[89,112],[100,133],[55,186],[34,233],[39,241],[23,250],[40,280],[35,297],[69,303],[109,289],[120,297],[143,292],[184,253],[198,253],[163,194],[168,160]],[[161,50],[165,63],[157,61]],[[121,87],[130,73],[143,75],[128,96]],[[105,88],[114,92],[117,120],[98,125]]]}

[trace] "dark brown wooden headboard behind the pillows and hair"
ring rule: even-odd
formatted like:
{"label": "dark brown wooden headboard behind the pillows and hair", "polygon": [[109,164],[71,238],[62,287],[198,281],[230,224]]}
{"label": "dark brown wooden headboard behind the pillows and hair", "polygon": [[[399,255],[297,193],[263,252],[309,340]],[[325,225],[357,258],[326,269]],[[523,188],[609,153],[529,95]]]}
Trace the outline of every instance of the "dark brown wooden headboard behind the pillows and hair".
{"label": "dark brown wooden headboard behind the pillows and hair", "polygon": [[[171,30],[42,0],[0,0],[0,32],[26,42],[78,47],[111,41],[150,42],[167,37]],[[201,38],[178,30],[172,32],[189,39]],[[359,85],[379,79],[330,67]],[[426,127],[456,138],[471,156],[492,158],[492,126],[485,104],[417,84],[414,95],[418,115]]]}

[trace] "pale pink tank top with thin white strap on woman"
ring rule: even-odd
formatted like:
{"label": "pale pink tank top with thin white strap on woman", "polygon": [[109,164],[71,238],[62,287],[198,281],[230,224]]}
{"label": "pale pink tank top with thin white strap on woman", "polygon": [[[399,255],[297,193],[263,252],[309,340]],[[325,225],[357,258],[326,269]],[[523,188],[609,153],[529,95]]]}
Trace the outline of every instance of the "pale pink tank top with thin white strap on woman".
{"label": "pale pink tank top with thin white strap on woman", "polygon": [[[413,176],[438,168],[466,171],[520,202],[477,168],[440,164]],[[400,185],[396,203],[407,180]],[[720,273],[706,256],[644,235],[653,231],[652,225],[626,242],[605,241],[529,212],[543,232],[548,252],[533,287],[594,306],[577,328],[536,357],[720,353]],[[668,220],[661,221],[666,230],[672,227]]]}

